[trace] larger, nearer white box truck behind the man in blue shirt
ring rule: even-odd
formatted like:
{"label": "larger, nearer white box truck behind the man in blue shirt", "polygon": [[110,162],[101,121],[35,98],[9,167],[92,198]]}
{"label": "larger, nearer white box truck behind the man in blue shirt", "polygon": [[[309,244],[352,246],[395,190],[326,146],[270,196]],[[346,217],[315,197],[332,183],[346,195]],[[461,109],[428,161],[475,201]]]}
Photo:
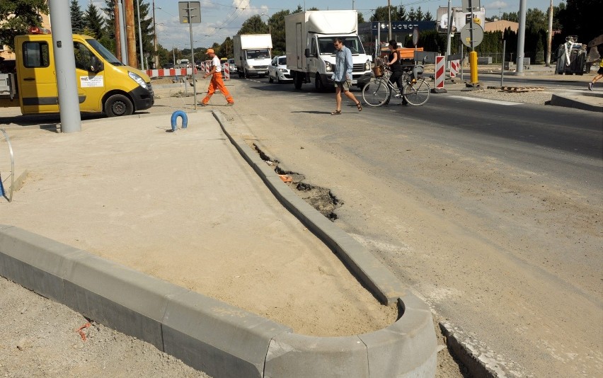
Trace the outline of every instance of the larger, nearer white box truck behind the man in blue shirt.
{"label": "larger, nearer white box truck behind the man in blue shirt", "polygon": [[305,11],[285,16],[287,69],[295,88],[302,88],[302,83],[312,78],[317,91],[333,86],[335,38],[352,50],[352,84],[362,88],[371,79],[371,60],[358,37],[357,12]]}

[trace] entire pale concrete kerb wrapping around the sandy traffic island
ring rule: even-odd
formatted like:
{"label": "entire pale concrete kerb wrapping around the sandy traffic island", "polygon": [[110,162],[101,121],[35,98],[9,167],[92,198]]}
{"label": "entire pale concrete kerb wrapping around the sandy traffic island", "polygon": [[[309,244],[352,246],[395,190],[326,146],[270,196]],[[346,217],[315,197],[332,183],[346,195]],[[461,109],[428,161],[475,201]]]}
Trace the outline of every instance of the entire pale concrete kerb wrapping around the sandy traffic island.
{"label": "entire pale concrete kerb wrapping around the sandy traffic island", "polygon": [[427,304],[351,236],[298,197],[241,139],[222,129],[272,193],[335,253],[367,290],[401,314],[355,336],[302,336],[184,287],[0,225],[0,275],[222,377],[434,377],[437,343]]}

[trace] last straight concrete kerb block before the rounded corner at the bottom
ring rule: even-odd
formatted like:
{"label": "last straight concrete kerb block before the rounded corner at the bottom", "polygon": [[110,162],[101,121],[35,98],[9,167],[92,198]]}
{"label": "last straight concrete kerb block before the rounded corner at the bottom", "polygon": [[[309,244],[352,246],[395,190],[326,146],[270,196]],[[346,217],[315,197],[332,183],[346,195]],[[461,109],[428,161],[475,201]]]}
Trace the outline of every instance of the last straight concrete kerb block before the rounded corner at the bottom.
{"label": "last straight concrete kerb block before the rounded corner at the bottom", "polygon": [[166,353],[214,377],[263,377],[270,340],[290,331],[195,292],[173,297],[163,319]]}

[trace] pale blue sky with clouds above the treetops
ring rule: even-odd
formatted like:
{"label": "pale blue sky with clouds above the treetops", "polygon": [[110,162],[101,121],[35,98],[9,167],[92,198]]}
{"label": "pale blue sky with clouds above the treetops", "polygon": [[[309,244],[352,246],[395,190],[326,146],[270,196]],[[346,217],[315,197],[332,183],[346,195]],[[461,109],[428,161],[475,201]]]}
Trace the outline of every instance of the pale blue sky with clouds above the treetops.
{"label": "pale blue sky with clouds above the treetops", "polygon": [[[86,10],[91,0],[79,0],[81,9]],[[100,9],[105,6],[104,0],[92,0]],[[134,0],[134,12],[136,11]],[[153,0],[139,0],[152,4]],[[475,3],[478,0],[473,0]],[[502,13],[519,12],[519,0],[479,0],[486,8],[486,17],[495,17]],[[553,0],[558,6],[561,0]],[[368,20],[377,6],[387,6],[387,0],[200,0],[201,23],[193,24],[193,46],[211,47],[213,42],[222,43],[228,36],[236,34],[241,25],[249,17],[260,15],[267,20],[270,15],[283,9],[293,11],[299,4],[302,8],[316,7],[326,9],[356,9]],[[325,6],[325,4],[328,4]],[[461,6],[461,0],[452,0],[452,6]],[[526,0],[527,8],[538,8],[546,11],[551,0]],[[189,25],[179,23],[178,0],[154,0],[157,38],[159,44],[168,50],[172,47],[190,48]],[[410,7],[421,7],[423,13],[430,11],[434,20],[437,8],[448,6],[447,0],[391,0],[391,6],[403,5],[408,11]],[[149,12],[150,13],[150,12]],[[151,13],[152,14],[152,13]]]}

